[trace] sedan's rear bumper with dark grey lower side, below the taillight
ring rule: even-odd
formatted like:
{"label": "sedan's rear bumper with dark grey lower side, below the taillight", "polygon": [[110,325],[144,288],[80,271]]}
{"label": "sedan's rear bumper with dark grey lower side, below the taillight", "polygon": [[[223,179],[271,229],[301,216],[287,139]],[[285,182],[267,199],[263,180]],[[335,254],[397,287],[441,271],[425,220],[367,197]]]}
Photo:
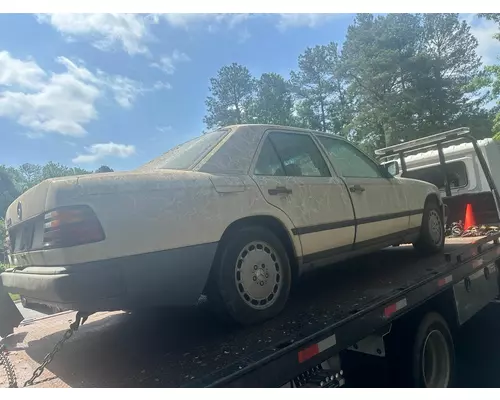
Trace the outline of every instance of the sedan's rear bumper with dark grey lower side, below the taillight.
{"label": "sedan's rear bumper with dark grey lower side, below the taillight", "polygon": [[112,311],[195,304],[217,243],[0,275],[3,286],[37,303],[67,310]]}

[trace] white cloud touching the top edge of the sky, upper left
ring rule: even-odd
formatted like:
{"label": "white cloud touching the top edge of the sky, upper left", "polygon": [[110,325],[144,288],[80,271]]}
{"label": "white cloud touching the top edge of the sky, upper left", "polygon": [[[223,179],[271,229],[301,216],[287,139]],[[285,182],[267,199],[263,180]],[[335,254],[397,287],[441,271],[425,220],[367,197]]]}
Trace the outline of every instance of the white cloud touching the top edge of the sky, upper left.
{"label": "white cloud touching the top edge of the sky, upper left", "polygon": [[52,25],[70,40],[89,40],[100,50],[121,47],[130,55],[147,54],[145,45],[153,38],[144,14],[39,14],[38,22]]}

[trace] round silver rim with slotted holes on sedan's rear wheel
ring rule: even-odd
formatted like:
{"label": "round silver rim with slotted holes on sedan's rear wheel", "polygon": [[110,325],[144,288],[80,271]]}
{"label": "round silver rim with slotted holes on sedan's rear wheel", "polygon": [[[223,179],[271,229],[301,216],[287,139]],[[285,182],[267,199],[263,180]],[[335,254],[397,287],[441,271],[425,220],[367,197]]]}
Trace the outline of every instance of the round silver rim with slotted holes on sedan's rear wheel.
{"label": "round silver rim with slotted holes on sedan's rear wheel", "polygon": [[238,255],[234,280],[243,301],[255,310],[271,307],[282,287],[281,260],[263,241],[246,245]]}

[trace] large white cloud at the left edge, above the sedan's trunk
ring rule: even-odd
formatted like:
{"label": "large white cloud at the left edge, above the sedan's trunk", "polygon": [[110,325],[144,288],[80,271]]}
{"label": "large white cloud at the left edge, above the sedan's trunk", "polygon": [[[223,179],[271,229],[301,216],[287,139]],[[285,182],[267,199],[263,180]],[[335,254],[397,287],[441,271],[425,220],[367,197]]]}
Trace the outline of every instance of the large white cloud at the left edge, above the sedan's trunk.
{"label": "large white cloud at the left edge, above the sedan's trunk", "polygon": [[98,117],[98,99],[110,95],[121,107],[130,108],[139,95],[166,88],[145,88],[123,76],[91,72],[66,57],[56,61],[66,71],[47,72],[34,61],[0,53],[0,117],[28,128],[31,137],[47,132],[84,136],[84,125]]}

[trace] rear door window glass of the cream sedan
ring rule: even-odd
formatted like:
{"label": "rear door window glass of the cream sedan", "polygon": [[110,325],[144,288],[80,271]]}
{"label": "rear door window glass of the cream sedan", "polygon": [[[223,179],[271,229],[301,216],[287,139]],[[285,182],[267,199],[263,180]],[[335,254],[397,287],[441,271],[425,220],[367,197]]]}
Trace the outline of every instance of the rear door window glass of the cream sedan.
{"label": "rear door window glass of the cream sedan", "polygon": [[256,175],[329,177],[330,171],[309,135],[272,132],[255,167]]}

